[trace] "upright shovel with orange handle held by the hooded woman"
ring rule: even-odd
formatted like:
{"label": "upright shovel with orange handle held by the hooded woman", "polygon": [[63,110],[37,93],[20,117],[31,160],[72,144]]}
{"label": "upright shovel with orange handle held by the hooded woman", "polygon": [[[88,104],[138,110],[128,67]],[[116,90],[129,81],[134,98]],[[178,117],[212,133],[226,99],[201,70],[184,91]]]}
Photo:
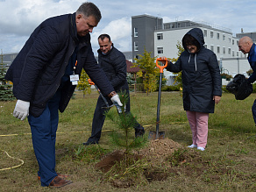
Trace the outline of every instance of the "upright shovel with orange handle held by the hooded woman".
{"label": "upright shovel with orange handle held by the hooded woman", "polygon": [[[158,64],[158,61],[163,63],[163,66]],[[156,132],[150,131],[149,132],[149,139],[164,139],[165,132],[159,132],[159,124],[160,124],[160,97],[161,97],[161,86],[162,86],[162,75],[164,68],[167,67],[168,60],[165,57],[157,58],[156,59],[156,67],[160,68],[160,82],[159,82],[159,93],[158,93],[158,104],[157,104],[157,117],[156,117]]]}

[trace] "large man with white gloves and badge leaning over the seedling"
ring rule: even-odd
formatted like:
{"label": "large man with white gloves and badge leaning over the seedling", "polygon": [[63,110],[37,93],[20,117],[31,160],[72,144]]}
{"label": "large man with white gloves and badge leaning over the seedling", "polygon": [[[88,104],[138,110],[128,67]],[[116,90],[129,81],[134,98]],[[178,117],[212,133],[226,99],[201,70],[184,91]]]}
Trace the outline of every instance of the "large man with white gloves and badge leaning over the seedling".
{"label": "large man with white gloves and badge leaning over the seedling", "polygon": [[13,116],[28,122],[32,145],[39,163],[41,186],[60,188],[72,181],[55,171],[55,140],[59,114],[75,91],[82,68],[113,103],[122,106],[90,44],[92,32],[101,19],[92,3],[84,3],[73,14],[48,18],[32,32],[8,69],[5,79],[13,82],[17,97]]}

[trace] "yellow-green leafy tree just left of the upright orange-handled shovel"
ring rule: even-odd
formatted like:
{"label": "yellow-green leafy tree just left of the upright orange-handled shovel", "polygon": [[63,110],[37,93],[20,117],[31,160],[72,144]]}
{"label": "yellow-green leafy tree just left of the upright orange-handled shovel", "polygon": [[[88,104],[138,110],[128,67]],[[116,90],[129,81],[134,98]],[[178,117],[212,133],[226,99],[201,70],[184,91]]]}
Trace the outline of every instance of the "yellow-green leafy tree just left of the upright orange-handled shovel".
{"label": "yellow-green leafy tree just left of the upright orange-handled shovel", "polygon": [[140,70],[137,73],[139,77],[143,78],[144,89],[146,94],[157,89],[157,75],[159,75],[159,68],[156,68],[154,60],[156,57],[151,57],[151,53],[146,52],[144,49],[143,55],[139,54],[140,59],[135,59],[133,68],[139,67]]}

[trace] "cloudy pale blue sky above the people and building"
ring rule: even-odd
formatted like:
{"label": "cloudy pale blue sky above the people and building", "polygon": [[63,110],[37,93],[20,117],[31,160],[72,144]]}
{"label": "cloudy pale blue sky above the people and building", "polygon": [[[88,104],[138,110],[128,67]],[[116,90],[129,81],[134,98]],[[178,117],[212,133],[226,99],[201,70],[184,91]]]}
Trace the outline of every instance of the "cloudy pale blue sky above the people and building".
{"label": "cloudy pale blue sky above the people and building", "polygon": [[[0,49],[19,52],[32,31],[46,18],[73,13],[84,0],[0,0]],[[231,32],[256,32],[255,0],[91,0],[102,11],[102,20],[92,32],[94,52],[97,37],[109,33],[120,51],[132,50],[132,16],[148,14],[164,19],[203,21],[230,28]],[[178,40],[178,39],[177,39]]]}

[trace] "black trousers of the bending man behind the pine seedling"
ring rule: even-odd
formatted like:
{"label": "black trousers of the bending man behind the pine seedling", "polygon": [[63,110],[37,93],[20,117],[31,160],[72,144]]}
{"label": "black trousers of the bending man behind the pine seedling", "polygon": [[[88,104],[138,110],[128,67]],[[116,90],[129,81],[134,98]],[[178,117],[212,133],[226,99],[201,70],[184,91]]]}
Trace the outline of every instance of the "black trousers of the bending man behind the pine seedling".
{"label": "black trousers of the bending man behind the pine seedling", "polygon": [[[129,92],[128,92],[129,94]],[[110,103],[110,105],[112,104],[110,99],[107,98],[108,102]],[[106,108],[106,104],[103,101],[103,97],[99,96],[97,103],[96,103],[96,109],[94,111],[94,117],[93,117],[93,121],[92,121],[92,129],[91,129],[91,136],[88,139],[88,143],[98,143],[99,139],[101,138],[101,134],[102,134],[102,129],[103,129],[103,124],[105,121],[105,116],[104,113],[105,111],[107,111],[108,109]],[[126,110],[125,113],[130,113],[131,110],[131,106],[130,106],[130,98],[128,100],[128,102],[126,103]],[[144,131],[143,126],[141,126],[137,121],[136,124],[133,126],[133,128],[136,131]]]}

